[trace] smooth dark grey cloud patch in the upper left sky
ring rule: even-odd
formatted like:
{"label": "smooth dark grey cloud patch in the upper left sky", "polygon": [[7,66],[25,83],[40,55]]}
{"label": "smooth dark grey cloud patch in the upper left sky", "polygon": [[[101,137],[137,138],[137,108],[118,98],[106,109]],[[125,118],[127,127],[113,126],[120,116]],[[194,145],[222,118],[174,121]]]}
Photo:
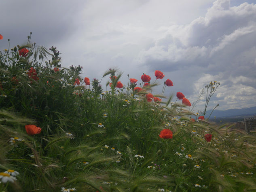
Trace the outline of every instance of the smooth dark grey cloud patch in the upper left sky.
{"label": "smooth dark grey cloud patch in the upper left sky", "polygon": [[[84,1],[76,1],[83,6]],[[10,39],[11,46],[25,44],[32,32],[33,40],[40,45],[51,46],[65,40],[78,26],[74,25],[76,3],[68,0],[8,0],[1,1],[1,34],[4,41]],[[6,44],[1,42],[0,49]],[[47,47],[48,48],[48,47]]]}

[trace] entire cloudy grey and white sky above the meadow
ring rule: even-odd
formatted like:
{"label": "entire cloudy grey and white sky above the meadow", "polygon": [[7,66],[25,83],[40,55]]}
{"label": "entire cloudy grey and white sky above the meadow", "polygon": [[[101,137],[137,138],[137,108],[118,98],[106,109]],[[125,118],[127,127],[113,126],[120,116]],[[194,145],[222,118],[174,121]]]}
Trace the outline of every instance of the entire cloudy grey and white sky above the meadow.
{"label": "entire cloudy grey and white sky above the meadow", "polygon": [[[91,80],[110,68],[122,72],[121,82],[143,73],[160,94],[168,78],[190,103],[211,81],[220,86],[207,109],[256,106],[255,0],[2,0],[0,50],[31,42],[61,52],[61,67],[83,66]],[[106,90],[105,77],[102,88]],[[109,90],[109,88],[108,88]],[[180,102],[180,101],[177,101]],[[204,109],[205,96],[194,112]],[[188,108],[191,110],[191,108]]]}

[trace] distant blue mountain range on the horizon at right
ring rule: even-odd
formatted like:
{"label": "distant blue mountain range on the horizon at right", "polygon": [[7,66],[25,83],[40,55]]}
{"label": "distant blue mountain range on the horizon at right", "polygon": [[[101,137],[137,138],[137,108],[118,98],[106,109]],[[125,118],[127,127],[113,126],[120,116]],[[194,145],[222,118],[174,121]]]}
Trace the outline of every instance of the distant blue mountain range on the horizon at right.
{"label": "distant blue mountain range on the horizon at right", "polygon": [[[212,110],[207,110],[205,118],[209,117]],[[214,110],[210,116],[210,119],[216,118],[229,118],[229,117],[245,117],[256,115],[256,106],[251,108],[242,109],[229,109],[229,110]]]}

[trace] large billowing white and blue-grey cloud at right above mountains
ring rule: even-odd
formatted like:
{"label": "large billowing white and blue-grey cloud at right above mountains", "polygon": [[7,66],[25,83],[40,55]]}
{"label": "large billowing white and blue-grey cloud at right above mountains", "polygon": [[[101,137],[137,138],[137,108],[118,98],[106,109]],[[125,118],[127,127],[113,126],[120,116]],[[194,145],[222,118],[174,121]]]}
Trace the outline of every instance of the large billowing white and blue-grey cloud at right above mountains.
{"label": "large billowing white and blue-grey cloud at right above mountains", "polygon": [[[141,63],[151,63],[152,70],[158,63],[159,70],[183,74],[187,89],[188,85],[194,87],[188,95],[191,100],[196,100],[198,91],[207,83],[217,80],[221,85],[212,103],[220,102],[220,109],[254,106],[256,101],[251,95],[256,89],[255,26],[256,5],[230,7],[229,0],[216,0],[205,17],[187,25],[170,26],[138,58]],[[199,102],[198,107],[202,108],[203,103]]]}

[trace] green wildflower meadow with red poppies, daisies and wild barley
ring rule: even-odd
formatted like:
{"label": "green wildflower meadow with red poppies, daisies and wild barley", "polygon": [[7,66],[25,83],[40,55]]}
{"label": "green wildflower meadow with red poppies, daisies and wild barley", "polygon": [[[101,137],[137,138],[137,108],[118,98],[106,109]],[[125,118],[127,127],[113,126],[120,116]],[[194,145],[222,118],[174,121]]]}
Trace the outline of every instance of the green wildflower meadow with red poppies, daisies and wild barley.
{"label": "green wildflower meadow with red poppies, daisies and wild barley", "polygon": [[159,70],[81,78],[30,40],[0,51],[0,191],[256,191],[255,132],[205,117],[219,82],[196,113]]}

